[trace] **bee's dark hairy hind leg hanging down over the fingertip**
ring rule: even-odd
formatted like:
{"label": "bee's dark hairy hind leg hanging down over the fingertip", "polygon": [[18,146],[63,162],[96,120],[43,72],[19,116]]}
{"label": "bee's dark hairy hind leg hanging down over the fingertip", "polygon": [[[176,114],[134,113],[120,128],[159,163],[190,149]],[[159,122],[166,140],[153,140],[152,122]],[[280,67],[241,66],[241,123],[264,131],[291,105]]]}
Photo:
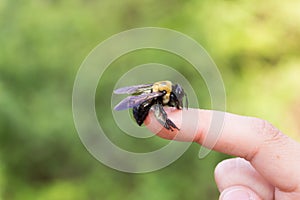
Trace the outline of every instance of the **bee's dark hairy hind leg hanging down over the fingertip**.
{"label": "bee's dark hairy hind leg hanging down over the fingertip", "polygon": [[157,121],[166,129],[171,131],[173,131],[173,129],[179,130],[179,128],[170,119],[168,119],[168,115],[161,104],[154,104],[152,106],[152,110],[154,111],[154,116]]}

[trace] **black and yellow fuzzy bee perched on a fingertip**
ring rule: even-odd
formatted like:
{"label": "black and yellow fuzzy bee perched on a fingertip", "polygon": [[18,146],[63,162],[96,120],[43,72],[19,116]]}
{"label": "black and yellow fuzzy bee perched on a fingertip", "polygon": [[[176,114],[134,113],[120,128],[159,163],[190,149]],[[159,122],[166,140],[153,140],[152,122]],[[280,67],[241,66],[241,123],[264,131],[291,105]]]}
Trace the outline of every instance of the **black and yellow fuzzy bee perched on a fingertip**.
{"label": "black and yellow fuzzy bee perched on a fingertip", "polygon": [[123,87],[114,90],[115,94],[130,94],[115,106],[115,110],[125,110],[132,108],[133,117],[137,124],[141,126],[146,119],[149,110],[152,108],[157,121],[166,129],[173,131],[179,128],[168,119],[164,106],[183,108],[183,98],[185,97],[185,107],[188,108],[187,95],[179,84],[171,81],[159,81],[153,84],[143,84]]}

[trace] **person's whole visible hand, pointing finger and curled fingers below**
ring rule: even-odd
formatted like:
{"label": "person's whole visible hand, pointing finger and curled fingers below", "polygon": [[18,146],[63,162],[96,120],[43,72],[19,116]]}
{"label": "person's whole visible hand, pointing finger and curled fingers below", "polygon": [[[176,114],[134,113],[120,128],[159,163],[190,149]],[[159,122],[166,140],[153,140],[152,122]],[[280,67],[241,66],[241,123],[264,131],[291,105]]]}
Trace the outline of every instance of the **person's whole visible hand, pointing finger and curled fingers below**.
{"label": "person's whole visible hand, pointing finger and curled fingers below", "polygon": [[[220,199],[300,199],[300,144],[269,122],[210,110],[165,110],[180,131],[165,129],[149,112],[144,123],[159,137],[193,141],[237,156],[215,169]],[[213,115],[224,116],[217,140],[210,140],[209,134]]]}

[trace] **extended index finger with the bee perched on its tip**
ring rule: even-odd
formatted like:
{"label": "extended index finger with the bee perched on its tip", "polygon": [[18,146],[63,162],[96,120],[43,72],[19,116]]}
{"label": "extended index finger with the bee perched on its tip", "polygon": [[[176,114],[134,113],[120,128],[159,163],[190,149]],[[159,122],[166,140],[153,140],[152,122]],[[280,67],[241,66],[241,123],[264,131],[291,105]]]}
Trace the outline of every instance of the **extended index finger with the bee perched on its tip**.
{"label": "extended index finger with the bee perched on its tip", "polygon": [[[195,141],[206,145],[210,140],[210,125],[214,115],[223,114],[222,130],[214,146],[216,151],[238,156],[248,160],[251,165],[281,192],[300,192],[300,144],[281,133],[270,123],[253,117],[239,116],[211,110],[167,109],[168,117],[181,124],[180,131],[163,128],[153,114],[145,123],[157,135],[167,139]],[[183,117],[184,116],[184,117]],[[184,120],[185,117],[189,120]],[[195,116],[198,116],[195,118]],[[189,126],[196,121],[197,126]],[[192,134],[191,134],[192,132]],[[195,134],[194,134],[195,132]],[[287,178],[289,177],[289,178]]]}

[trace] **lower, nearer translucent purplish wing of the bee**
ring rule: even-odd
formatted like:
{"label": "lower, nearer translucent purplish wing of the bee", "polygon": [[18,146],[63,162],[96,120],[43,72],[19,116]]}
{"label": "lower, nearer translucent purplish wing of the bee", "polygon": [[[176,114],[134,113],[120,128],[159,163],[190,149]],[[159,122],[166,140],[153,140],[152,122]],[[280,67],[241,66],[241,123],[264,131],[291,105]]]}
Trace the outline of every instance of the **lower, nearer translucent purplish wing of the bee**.
{"label": "lower, nearer translucent purplish wing of the bee", "polygon": [[129,96],[125,99],[123,99],[118,105],[115,106],[115,110],[125,110],[127,108],[133,108],[134,106],[137,106],[147,100],[153,99],[155,97],[162,96],[163,93],[160,92],[152,92],[152,93],[146,93],[141,94],[137,96]]}

